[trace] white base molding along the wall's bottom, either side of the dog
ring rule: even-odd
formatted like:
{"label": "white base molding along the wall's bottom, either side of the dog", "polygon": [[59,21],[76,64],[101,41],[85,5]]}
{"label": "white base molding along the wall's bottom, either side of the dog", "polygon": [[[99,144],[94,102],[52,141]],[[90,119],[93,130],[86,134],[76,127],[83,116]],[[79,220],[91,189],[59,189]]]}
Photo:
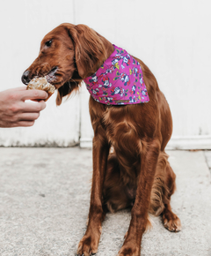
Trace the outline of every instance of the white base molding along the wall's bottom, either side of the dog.
{"label": "white base molding along the wall's bottom, either side of the dog", "polygon": [[[92,147],[91,138],[81,138],[80,147]],[[211,149],[211,136],[174,136],[169,141],[166,150]]]}

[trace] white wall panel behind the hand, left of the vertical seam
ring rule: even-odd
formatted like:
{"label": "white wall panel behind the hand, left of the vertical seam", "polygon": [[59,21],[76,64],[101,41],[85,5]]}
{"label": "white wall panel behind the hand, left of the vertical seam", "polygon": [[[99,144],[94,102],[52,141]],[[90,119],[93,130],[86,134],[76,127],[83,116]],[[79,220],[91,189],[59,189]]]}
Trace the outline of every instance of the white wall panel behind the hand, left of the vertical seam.
{"label": "white wall panel behind the hand, left of the vertical seam", "polygon": [[[0,90],[22,87],[21,76],[38,56],[40,41],[62,22],[74,22],[73,2],[69,0],[1,0],[0,9]],[[4,146],[69,146],[78,143],[80,102],[77,95],[60,107],[55,96],[33,127],[0,129]]]}

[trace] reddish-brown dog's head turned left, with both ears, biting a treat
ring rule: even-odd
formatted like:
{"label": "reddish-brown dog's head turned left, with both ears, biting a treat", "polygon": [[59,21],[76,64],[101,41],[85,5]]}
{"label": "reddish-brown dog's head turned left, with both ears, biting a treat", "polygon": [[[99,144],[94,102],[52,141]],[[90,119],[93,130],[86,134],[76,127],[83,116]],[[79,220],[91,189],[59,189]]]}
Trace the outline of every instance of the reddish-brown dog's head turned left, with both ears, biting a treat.
{"label": "reddish-brown dog's head turned left, with both ears, biting a treat", "polygon": [[41,41],[39,56],[23,73],[27,85],[34,77],[46,76],[58,89],[56,104],[71,94],[80,82],[97,71],[106,60],[105,38],[85,25],[64,23]]}

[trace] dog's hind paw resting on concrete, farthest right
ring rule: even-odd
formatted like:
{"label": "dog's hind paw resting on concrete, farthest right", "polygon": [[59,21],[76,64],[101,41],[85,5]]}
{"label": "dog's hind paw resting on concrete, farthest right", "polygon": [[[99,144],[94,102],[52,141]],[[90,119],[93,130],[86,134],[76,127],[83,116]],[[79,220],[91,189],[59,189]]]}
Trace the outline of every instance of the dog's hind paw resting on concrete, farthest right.
{"label": "dog's hind paw resting on concrete, farthest right", "polygon": [[171,231],[171,232],[179,232],[181,230],[181,222],[177,215],[171,213],[164,214],[163,217],[163,223],[165,229]]}

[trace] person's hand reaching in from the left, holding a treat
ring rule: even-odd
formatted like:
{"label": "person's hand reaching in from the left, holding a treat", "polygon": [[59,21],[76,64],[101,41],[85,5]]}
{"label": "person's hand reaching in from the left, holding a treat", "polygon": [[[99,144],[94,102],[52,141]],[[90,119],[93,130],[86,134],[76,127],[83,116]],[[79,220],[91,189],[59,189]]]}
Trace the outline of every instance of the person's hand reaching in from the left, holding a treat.
{"label": "person's hand reaching in from the left, holding a treat", "polygon": [[0,92],[0,127],[33,126],[46,108],[44,101],[25,102],[25,100],[45,100],[47,93],[41,90],[26,90],[17,87]]}

